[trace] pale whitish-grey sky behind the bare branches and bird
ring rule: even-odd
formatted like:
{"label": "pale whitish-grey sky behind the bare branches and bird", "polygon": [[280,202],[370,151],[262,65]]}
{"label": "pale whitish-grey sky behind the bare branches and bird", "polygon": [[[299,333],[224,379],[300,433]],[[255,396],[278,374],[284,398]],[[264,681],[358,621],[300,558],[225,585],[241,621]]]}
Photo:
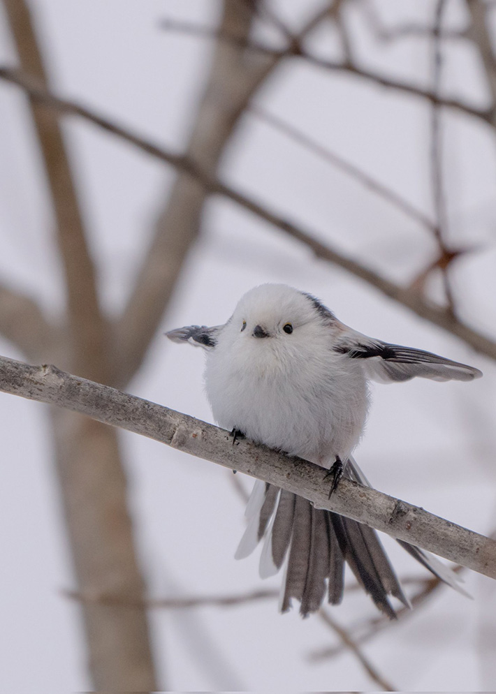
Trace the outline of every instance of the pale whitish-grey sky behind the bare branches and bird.
{"label": "pale whitish-grey sky behind the bare branches and bird", "polygon": [[[165,33],[163,18],[214,24],[212,0],[36,0],[53,84],[152,140],[180,151],[187,142],[210,56],[208,41]],[[275,8],[298,26],[315,2],[279,0]],[[393,24],[428,20],[431,0],[377,2]],[[462,24],[462,3],[448,3],[448,22]],[[428,84],[430,53],[422,40],[378,49],[353,22],[358,54],[367,65]],[[330,38],[319,50],[333,54]],[[0,62],[13,61],[0,15]],[[446,51],[450,94],[487,102],[476,57]],[[432,212],[428,107],[340,75],[291,63],[257,98],[270,112],[346,156],[417,207]],[[61,273],[52,246],[41,165],[24,99],[0,84],[0,276],[38,297],[48,311],[63,305]],[[447,114],[444,171],[453,244],[479,246],[453,274],[460,315],[495,336],[496,156],[490,128]],[[101,291],[110,311],[122,306],[152,233],[173,172],[92,126],[66,126],[71,157],[91,232]],[[323,238],[397,281],[413,279],[434,245],[418,224],[319,161],[254,117],[246,117],[223,176]],[[218,324],[245,290],[284,282],[321,297],[360,332],[442,353],[474,364],[474,383],[418,381],[374,387],[374,404],[356,457],[381,491],[481,533],[496,527],[495,379],[493,363],[454,337],[412,316],[376,290],[312,258],[280,232],[215,200],[205,211],[203,236],[191,252],[163,330],[189,323]],[[439,297],[439,286],[429,286]],[[161,331],[163,332],[163,331]],[[0,341],[0,352],[20,358]],[[156,337],[131,392],[212,420],[202,385],[203,355]],[[8,691],[85,690],[85,654],[77,607],[62,594],[73,587],[61,519],[45,408],[0,394],[3,480],[0,485],[1,684]],[[123,434],[131,505],[143,570],[154,597],[235,593],[262,584],[258,556],[236,562],[243,508],[223,469],[145,438]],[[251,480],[243,480],[247,489]],[[422,569],[385,540],[400,575]],[[496,622],[493,582],[466,574],[467,600],[444,589],[428,607],[366,648],[400,689],[476,691],[496,688],[490,654],[481,660],[482,628]],[[361,593],[333,611],[343,626],[374,616]],[[280,616],[275,603],[154,612],[159,671],[176,690],[363,691],[370,680],[345,654],[318,663],[310,654],[336,643],[316,617]],[[494,639],[494,633],[493,633]],[[495,641],[492,642],[492,648]]]}

